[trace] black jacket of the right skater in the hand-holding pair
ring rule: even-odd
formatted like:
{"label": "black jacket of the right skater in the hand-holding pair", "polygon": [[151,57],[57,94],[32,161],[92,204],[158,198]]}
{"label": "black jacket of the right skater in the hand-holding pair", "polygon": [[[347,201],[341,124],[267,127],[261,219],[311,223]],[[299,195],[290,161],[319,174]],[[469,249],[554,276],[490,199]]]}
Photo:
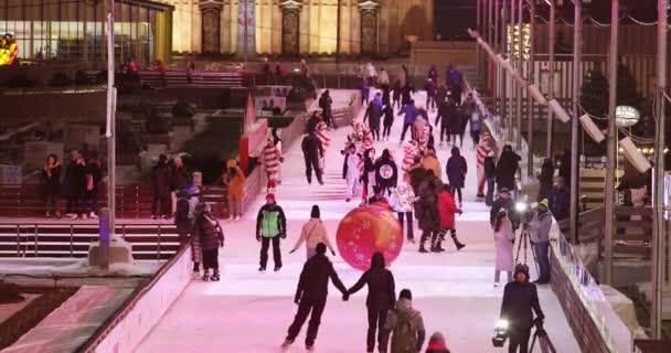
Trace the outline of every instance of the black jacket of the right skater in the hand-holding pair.
{"label": "black jacket of the right skater in the hand-holding pair", "polygon": [[353,295],[366,285],[369,286],[369,295],[365,299],[368,308],[379,311],[394,308],[396,302],[394,275],[385,268],[384,256],[373,255],[371,269],[363,272],[348,293]]}

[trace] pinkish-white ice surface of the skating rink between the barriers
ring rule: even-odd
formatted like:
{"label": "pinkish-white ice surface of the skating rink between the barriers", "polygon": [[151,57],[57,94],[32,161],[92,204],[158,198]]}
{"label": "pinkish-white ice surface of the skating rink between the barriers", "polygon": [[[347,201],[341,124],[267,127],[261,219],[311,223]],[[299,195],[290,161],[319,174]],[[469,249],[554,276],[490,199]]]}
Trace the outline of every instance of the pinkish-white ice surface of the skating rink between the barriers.
{"label": "pinkish-white ice surface of the skating rink between the barriers", "polygon": [[[424,94],[417,94],[415,100],[424,101]],[[402,160],[401,120],[396,119],[392,140],[376,145],[379,152],[383,148],[393,149],[397,161]],[[349,128],[340,128],[331,133],[332,147],[327,156],[323,186],[307,184],[299,146],[286,156],[284,180],[277,193],[289,218],[281,271],[257,272],[259,244],[254,239],[254,218],[255,210],[264,202],[264,196],[259,195],[243,221],[224,224],[227,243],[220,255],[222,281],[193,281],[138,352],[279,352],[295,314],[292,297],[305,261],[303,250],[289,255],[288,249],[309,217],[310,206],[320,205],[334,242],[339,221],[355,205],[344,202],[344,181],[340,178],[342,157],[339,151],[349,132]],[[419,254],[417,245],[406,243],[391,269],[397,290],[413,290],[414,304],[423,312],[428,335],[441,331],[451,352],[504,352],[491,346],[503,290],[492,285],[494,246],[488,210],[475,197],[475,150],[468,138],[464,146],[469,163],[468,189],[465,213],[457,218],[457,226],[459,238],[467,247],[456,253],[447,244],[448,250],[444,254]],[[449,148],[439,147],[438,154],[445,165]],[[339,257],[333,261],[345,286],[352,286],[361,276]],[[557,351],[579,352],[557,298],[548,286],[541,287],[539,292],[547,317],[546,329]],[[339,292],[331,288],[316,343],[317,352],[364,352],[366,321],[365,290],[343,302]],[[306,329],[288,352],[305,352]]]}

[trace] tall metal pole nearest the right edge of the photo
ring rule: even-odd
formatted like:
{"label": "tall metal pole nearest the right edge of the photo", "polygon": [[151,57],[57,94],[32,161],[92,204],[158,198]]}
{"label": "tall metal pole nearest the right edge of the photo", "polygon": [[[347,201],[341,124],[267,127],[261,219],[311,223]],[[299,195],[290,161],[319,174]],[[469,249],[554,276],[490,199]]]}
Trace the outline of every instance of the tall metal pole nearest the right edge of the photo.
{"label": "tall metal pole nearest the right edge of the photo", "polygon": [[664,284],[664,148],[667,94],[667,0],[657,1],[657,130],[654,133],[654,227],[652,228],[652,299],[650,328],[653,339],[662,338],[662,286]]}

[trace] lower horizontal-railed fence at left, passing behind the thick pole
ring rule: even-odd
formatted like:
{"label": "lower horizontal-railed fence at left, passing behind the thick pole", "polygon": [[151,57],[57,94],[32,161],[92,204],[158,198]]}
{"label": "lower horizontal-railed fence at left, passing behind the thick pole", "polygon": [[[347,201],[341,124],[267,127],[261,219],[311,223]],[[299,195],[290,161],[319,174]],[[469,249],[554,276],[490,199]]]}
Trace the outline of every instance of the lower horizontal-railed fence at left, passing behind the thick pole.
{"label": "lower horizontal-railed fence at left, passing behind the thick pole", "polygon": [[[86,257],[98,228],[95,222],[0,222],[0,257]],[[168,259],[180,247],[171,223],[118,223],[116,234],[132,245],[135,259]]]}

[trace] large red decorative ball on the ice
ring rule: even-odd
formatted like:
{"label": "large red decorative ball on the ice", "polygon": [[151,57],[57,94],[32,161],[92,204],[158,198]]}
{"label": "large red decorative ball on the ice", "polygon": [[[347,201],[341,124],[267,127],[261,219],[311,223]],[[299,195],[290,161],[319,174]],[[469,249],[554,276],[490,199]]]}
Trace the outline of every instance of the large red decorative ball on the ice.
{"label": "large red decorative ball on the ice", "polygon": [[336,235],[340,255],[353,268],[366,270],[375,252],[392,264],[403,248],[403,232],[395,214],[386,205],[354,208],[340,221]]}

